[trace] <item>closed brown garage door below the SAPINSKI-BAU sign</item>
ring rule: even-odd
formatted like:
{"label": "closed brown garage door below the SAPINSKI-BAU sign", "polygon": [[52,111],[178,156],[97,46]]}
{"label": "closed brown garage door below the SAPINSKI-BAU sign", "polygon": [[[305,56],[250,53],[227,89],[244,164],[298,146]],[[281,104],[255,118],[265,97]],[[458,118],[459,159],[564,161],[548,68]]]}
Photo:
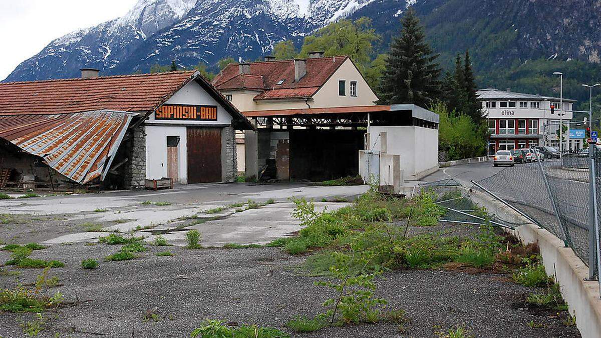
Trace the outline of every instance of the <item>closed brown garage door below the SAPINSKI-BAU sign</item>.
{"label": "closed brown garage door below the SAPINSKI-BAU sign", "polygon": [[221,182],[221,129],[188,127],[188,183]]}

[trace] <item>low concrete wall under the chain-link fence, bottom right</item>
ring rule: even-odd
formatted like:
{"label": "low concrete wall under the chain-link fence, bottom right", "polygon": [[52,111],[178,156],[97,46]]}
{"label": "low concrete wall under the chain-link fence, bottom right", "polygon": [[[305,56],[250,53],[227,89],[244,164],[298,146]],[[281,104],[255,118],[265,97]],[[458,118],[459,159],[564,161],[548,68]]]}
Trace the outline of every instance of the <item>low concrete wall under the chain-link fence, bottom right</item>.
{"label": "low concrete wall under the chain-link fence, bottom right", "polygon": [[517,214],[501,202],[481,192],[470,194],[474,203],[503,214],[504,218],[525,224],[510,230],[523,244],[537,243],[543,257],[543,265],[548,275],[555,275],[560,284],[561,294],[568,303],[569,312],[576,316],[576,326],[582,337],[599,337],[601,332],[601,298],[599,283],[587,280],[588,268],[571,248],[564,247],[563,241],[545,229]]}

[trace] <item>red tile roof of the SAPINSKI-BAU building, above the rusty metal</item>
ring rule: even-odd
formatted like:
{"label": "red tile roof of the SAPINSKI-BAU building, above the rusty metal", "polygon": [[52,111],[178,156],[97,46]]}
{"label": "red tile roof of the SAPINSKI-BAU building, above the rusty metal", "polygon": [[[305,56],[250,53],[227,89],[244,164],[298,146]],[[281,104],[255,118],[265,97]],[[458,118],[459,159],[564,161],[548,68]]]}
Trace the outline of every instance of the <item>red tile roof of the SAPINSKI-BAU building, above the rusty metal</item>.
{"label": "red tile roof of the SAPINSKI-BAU building, above the rusty metal", "polygon": [[0,115],[114,109],[150,112],[195,77],[195,70],[0,83]]}

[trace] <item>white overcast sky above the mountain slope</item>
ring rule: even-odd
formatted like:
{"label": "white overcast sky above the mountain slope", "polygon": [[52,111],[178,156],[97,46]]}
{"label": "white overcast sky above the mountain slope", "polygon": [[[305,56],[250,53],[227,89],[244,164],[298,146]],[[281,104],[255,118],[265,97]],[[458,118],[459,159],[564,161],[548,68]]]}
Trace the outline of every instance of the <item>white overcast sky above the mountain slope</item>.
{"label": "white overcast sky above the mountain slope", "polygon": [[0,0],[0,80],[57,37],[123,16],[136,0]]}

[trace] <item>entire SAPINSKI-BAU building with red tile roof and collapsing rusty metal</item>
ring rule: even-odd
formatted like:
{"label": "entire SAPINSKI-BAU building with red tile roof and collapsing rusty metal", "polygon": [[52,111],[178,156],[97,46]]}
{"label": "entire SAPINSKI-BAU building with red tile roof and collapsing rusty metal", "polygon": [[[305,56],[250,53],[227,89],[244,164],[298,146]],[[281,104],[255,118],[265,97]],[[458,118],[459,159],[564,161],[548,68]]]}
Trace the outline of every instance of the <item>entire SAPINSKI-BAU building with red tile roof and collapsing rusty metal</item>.
{"label": "entire SAPINSKI-BAU building with red tile roof and collapsing rusty metal", "polygon": [[233,182],[234,129],[254,127],[197,71],[0,84],[9,184]]}

